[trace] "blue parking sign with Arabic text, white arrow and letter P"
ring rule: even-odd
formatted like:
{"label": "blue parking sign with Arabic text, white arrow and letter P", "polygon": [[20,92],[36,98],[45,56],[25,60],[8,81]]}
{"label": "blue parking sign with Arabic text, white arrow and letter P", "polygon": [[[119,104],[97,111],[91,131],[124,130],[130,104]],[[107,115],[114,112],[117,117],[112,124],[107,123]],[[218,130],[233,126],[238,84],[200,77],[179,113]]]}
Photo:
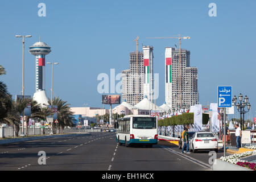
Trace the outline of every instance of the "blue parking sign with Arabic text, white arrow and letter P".
{"label": "blue parking sign with Arabic text, white arrow and letter P", "polygon": [[232,86],[218,86],[218,107],[232,106]]}

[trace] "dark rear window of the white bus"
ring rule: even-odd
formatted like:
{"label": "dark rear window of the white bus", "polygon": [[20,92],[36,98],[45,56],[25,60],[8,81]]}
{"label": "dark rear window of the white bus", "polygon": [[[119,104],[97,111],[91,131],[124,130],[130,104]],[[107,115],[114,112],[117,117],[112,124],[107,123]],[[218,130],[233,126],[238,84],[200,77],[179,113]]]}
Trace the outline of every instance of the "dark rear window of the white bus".
{"label": "dark rear window of the white bus", "polygon": [[133,129],[156,129],[156,118],[134,117]]}

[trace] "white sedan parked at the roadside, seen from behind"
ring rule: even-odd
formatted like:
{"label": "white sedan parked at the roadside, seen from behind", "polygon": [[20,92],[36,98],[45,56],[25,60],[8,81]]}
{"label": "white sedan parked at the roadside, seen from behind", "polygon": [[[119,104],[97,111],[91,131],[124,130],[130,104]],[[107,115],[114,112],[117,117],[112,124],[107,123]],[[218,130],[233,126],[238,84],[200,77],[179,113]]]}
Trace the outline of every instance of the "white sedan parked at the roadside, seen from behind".
{"label": "white sedan parked at the roadside, seen from behind", "polygon": [[218,140],[212,132],[196,132],[189,141],[189,148],[194,153],[198,150],[218,152]]}

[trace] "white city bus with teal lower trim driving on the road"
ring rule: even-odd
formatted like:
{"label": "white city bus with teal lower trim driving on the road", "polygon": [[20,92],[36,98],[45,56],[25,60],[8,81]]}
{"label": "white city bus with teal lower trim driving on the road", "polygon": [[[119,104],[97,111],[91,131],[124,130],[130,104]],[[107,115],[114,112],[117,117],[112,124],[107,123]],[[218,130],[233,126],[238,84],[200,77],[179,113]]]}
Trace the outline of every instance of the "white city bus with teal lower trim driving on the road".
{"label": "white city bus with teal lower trim driving on the road", "polygon": [[126,115],[117,121],[116,140],[121,146],[125,144],[143,144],[152,147],[158,143],[158,123],[150,115]]}

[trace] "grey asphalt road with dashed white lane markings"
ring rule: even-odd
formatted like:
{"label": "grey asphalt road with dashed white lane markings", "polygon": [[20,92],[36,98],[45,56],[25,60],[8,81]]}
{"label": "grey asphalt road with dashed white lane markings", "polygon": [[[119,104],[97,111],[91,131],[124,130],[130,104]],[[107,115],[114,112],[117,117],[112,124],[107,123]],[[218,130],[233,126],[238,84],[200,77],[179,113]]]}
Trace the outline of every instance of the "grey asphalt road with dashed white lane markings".
{"label": "grey asphalt road with dashed white lane markings", "polygon": [[[45,165],[38,163],[39,151],[46,152]],[[163,141],[152,148],[118,146],[115,133],[92,133],[1,145],[0,171],[204,171],[210,169],[209,158],[208,152],[181,154]]]}

